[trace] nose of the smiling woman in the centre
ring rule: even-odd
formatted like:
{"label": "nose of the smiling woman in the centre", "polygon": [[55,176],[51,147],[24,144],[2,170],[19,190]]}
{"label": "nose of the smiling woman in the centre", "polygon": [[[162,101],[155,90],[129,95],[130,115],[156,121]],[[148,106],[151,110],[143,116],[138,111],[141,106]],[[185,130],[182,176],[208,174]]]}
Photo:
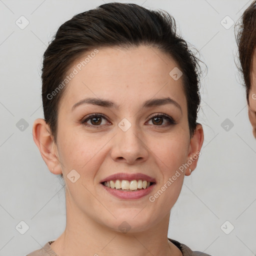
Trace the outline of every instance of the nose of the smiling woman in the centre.
{"label": "nose of the smiling woman in the centre", "polygon": [[128,164],[140,163],[148,158],[146,144],[145,136],[138,127],[135,127],[135,124],[126,131],[118,127],[110,155],[114,161]]}

